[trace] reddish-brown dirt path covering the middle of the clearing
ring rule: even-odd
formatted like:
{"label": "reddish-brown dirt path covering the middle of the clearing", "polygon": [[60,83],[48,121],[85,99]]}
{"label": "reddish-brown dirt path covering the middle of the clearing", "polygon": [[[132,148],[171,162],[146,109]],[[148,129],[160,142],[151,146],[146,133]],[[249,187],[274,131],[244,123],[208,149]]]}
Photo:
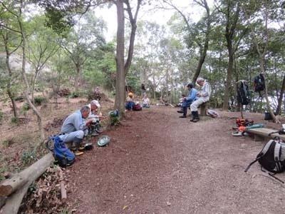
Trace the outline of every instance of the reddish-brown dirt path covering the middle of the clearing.
{"label": "reddish-brown dirt path covering the middle of the clearing", "polygon": [[231,136],[233,113],[190,123],[176,110],[130,111],[123,126],[103,133],[110,146],[78,158],[67,173],[75,213],[285,212],[284,185],[258,163],[244,173],[264,143]]}

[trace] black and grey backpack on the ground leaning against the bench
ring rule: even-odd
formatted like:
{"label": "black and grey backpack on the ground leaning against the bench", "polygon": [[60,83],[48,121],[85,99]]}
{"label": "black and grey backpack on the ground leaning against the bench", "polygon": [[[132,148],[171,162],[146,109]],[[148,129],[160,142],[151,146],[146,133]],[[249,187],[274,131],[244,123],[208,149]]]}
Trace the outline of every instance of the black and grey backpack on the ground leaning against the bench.
{"label": "black and grey backpack on the ground leaning against the bench", "polygon": [[[252,164],[257,161],[260,163],[261,170],[263,172],[265,172],[263,170],[264,168],[270,172],[269,175],[276,178],[274,176],[276,173],[282,173],[285,171],[285,143],[281,143],[278,137],[268,141],[257,155],[257,158],[255,158],[252,163],[249,163],[244,172],[246,173]],[[276,179],[284,183],[279,178]]]}

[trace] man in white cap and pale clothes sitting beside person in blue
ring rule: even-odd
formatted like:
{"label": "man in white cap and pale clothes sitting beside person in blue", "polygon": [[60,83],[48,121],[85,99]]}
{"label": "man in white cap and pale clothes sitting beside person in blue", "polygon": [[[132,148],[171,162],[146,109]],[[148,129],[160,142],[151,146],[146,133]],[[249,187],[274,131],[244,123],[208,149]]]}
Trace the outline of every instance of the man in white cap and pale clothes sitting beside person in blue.
{"label": "man in white cap and pale clothes sitting beside person in blue", "polygon": [[199,114],[198,114],[198,107],[202,103],[206,103],[209,101],[209,96],[211,95],[211,86],[209,86],[209,83],[207,83],[204,78],[199,77],[197,78],[197,84],[199,86],[202,86],[201,91],[197,93],[197,100],[195,100],[191,105],[191,113],[192,113],[192,119],[190,121],[196,123],[199,121]]}

